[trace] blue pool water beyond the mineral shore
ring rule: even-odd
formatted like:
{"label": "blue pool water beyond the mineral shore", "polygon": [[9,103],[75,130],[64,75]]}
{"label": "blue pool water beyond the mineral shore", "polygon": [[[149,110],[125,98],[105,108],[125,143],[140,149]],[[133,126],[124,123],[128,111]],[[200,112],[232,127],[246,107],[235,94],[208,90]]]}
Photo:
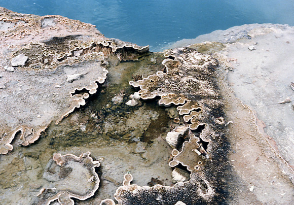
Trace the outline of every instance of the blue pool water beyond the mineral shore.
{"label": "blue pool water beyond the mineral shore", "polygon": [[91,23],[109,38],[150,45],[249,23],[294,26],[294,0],[0,0],[19,13],[58,14]]}

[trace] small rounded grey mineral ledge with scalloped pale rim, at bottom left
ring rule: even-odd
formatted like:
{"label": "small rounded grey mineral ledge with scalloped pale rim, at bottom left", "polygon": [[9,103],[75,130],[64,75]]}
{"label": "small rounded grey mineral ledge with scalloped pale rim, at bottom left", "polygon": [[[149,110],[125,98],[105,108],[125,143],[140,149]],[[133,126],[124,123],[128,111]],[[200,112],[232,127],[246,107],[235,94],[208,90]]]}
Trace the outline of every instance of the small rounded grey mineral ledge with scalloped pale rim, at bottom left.
{"label": "small rounded grey mineral ledge with scalloped pale rim, at bottom left", "polygon": [[71,198],[85,200],[93,196],[100,182],[95,167],[100,163],[93,161],[89,155],[90,152],[82,153],[80,157],[54,154],[43,175],[52,182],[52,188],[42,188],[31,204],[49,205],[58,199],[62,205],[73,205],[75,203]]}

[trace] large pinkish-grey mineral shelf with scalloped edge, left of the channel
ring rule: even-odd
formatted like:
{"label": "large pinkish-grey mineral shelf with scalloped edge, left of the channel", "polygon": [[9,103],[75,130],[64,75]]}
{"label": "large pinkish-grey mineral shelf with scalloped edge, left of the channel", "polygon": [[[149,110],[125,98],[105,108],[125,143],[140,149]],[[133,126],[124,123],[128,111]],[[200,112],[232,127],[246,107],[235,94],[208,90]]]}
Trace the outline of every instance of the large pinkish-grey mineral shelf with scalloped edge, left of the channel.
{"label": "large pinkish-grey mineral shelf with scalloped edge, left of the channel", "polygon": [[135,60],[149,49],[61,16],[0,8],[0,22],[0,154],[13,149],[16,136],[27,146],[51,122],[84,106],[105,81],[109,56]]}

